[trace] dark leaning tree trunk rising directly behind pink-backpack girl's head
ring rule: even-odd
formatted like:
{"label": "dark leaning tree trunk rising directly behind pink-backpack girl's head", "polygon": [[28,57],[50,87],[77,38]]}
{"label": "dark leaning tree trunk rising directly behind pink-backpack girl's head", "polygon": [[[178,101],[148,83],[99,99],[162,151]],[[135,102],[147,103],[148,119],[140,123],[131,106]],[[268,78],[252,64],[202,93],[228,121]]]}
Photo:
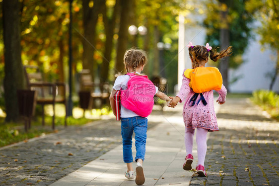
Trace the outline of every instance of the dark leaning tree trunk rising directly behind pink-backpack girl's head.
{"label": "dark leaning tree trunk rising directly behind pink-backpack girl's head", "polygon": [[124,63],[123,57],[125,51],[127,50],[128,44],[128,24],[131,19],[132,0],[121,0],[121,16],[120,16],[120,27],[118,33],[118,46],[117,46],[117,55],[116,55],[116,64],[115,64],[115,73],[123,72]]}

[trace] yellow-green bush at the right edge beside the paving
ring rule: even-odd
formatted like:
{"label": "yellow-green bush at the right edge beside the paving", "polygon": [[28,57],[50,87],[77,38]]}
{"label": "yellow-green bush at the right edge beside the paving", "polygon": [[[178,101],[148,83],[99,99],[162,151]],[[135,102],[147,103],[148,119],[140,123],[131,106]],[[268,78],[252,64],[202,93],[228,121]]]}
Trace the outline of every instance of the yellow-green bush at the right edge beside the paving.
{"label": "yellow-green bush at the right edge beside the paving", "polygon": [[272,117],[279,119],[279,94],[273,91],[258,90],[253,93],[252,100],[267,110]]}

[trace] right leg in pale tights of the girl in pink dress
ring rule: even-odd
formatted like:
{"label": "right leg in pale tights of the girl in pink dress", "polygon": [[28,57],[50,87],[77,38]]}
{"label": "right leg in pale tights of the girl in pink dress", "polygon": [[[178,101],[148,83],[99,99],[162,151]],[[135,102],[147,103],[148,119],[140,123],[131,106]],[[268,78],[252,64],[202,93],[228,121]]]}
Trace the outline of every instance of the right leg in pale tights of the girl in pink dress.
{"label": "right leg in pale tights of the girl in pink dress", "polygon": [[207,134],[208,129],[204,128],[197,128],[197,135],[196,135],[196,141],[197,141],[197,150],[198,150],[198,164],[205,166],[205,158],[207,154]]}

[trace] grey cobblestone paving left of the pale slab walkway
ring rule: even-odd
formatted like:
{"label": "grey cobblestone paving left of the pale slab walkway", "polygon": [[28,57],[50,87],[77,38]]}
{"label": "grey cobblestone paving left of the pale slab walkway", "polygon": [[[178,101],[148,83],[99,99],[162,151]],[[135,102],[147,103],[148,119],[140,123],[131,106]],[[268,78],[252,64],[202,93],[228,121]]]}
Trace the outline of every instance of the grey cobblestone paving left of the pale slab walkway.
{"label": "grey cobblestone paving left of the pale slab walkway", "polygon": [[0,148],[0,186],[48,186],[120,145],[120,130],[119,122],[108,119]]}

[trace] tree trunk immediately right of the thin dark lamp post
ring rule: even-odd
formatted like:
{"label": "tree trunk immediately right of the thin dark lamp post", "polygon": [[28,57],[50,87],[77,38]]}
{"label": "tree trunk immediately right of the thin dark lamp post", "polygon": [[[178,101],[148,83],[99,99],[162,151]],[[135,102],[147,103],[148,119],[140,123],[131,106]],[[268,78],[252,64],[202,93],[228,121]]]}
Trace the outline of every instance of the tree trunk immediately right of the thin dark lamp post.
{"label": "tree trunk immediately right of the thin dark lamp post", "polygon": [[[83,69],[89,69],[94,81],[94,47],[95,47],[95,34],[96,24],[98,20],[98,13],[100,11],[100,3],[102,0],[94,0],[93,6],[91,0],[82,0],[83,7]],[[89,6],[90,5],[90,6]]]}

